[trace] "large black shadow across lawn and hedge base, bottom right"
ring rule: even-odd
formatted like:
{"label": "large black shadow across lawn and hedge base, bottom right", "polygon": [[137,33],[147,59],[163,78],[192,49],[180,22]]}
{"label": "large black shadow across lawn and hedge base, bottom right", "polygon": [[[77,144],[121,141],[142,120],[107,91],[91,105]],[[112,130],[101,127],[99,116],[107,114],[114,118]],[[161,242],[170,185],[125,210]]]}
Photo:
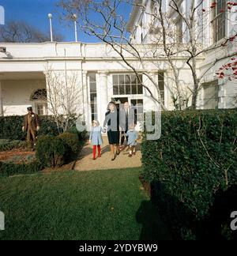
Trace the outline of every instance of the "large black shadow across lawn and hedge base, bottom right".
{"label": "large black shadow across lawn and hedge base, bottom right", "polygon": [[[137,214],[137,222],[143,224],[141,239],[166,239],[164,230],[167,228],[175,240],[237,239],[237,233],[231,232],[230,228],[230,214],[236,210],[237,185],[216,193],[209,216],[202,220],[196,220],[181,201],[167,194],[163,184],[152,183],[149,192],[151,201],[144,201]],[[192,234],[189,235],[186,231],[191,231]]]}

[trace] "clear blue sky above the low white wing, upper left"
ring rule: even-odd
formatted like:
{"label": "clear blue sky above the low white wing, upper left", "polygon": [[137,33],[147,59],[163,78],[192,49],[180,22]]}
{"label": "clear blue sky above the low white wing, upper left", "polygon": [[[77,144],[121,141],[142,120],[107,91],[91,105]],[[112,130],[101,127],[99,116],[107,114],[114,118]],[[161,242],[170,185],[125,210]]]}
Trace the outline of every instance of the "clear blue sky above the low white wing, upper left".
{"label": "clear blue sky above the low white wing, upper left", "polygon": [[[56,12],[58,0],[0,0],[0,6],[5,8],[5,19],[7,21],[25,21],[42,32],[48,32],[48,13],[53,14],[53,28],[55,32],[64,36],[65,41],[74,41],[73,26],[61,24]],[[130,9],[124,15],[129,15]],[[86,36],[84,32],[78,31],[78,40],[81,42],[98,42],[91,36]]]}

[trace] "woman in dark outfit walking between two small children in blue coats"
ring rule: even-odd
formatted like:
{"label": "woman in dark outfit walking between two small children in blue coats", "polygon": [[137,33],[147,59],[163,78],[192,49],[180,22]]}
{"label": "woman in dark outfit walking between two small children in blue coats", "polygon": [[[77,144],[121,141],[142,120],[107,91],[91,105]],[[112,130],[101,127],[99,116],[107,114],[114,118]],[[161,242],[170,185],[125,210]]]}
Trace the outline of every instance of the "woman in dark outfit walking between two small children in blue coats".
{"label": "woman in dark outfit walking between two small children in blue coats", "polygon": [[[111,101],[107,106],[103,127],[107,126],[107,138],[111,145],[111,160],[115,160],[116,155],[119,155],[119,111],[116,104]],[[116,146],[116,154],[115,154]]]}

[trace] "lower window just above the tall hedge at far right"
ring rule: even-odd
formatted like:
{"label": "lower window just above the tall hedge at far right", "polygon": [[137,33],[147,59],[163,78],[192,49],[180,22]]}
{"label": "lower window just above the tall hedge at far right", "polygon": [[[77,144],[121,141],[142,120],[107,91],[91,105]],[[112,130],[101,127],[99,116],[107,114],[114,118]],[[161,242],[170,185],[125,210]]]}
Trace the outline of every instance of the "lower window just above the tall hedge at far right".
{"label": "lower window just above the tall hedge at far right", "polygon": [[218,81],[210,81],[202,85],[204,90],[204,108],[218,108]]}

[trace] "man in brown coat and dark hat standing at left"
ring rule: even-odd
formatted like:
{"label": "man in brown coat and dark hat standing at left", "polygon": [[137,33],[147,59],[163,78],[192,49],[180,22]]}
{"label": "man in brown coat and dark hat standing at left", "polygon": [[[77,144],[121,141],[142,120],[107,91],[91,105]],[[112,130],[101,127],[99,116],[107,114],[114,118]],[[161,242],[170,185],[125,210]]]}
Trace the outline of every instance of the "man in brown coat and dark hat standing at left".
{"label": "man in brown coat and dark hat standing at left", "polygon": [[28,114],[24,115],[24,121],[22,125],[23,132],[27,132],[27,141],[31,145],[32,151],[36,146],[36,134],[40,130],[40,118],[39,115],[33,113],[32,107],[28,107]]}

